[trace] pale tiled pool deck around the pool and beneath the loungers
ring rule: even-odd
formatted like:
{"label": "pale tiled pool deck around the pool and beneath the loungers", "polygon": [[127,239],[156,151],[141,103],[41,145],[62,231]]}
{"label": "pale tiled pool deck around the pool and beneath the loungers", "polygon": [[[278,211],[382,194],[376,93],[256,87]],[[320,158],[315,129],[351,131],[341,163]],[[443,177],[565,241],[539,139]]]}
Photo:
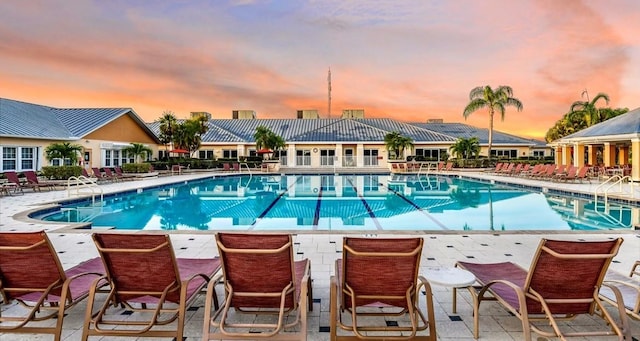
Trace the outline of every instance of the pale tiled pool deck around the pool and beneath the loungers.
{"label": "pale tiled pool deck around the pool and beneath the loungers", "polygon": [[[101,185],[105,193],[136,189],[138,187],[155,186],[176,181],[186,181],[206,176],[205,174],[176,175],[155,179],[120,182]],[[487,181],[513,181],[510,178],[485,174],[465,173],[463,176],[484,178]],[[523,186],[542,187],[547,190],[569,190],[584,193],[592,193],[597,184],[564,184],[548,181],[532,181],[516,179]],[[38,221],[25,221],[23,212],[42,207],[47,203],[65,199],[66,190],[43,191],[32,193],[25,190],[24,195],[0,197],[0,231],[33,231],[45,229],[49,231],[56,250],[64,268],[71,267],[85,259],[98,255],[88,230],[63,229],[60,224],[44,224]],[[640,197],[638,195],[637,197]],[[361,235],[361,234],[360,234]],[[619,254],[610,268],[621,272],[628,272],[635,260],[640,259],[640,234],[638,231],[598,231],[575,232],[544,231],[519,233],[469,233],[457,231],[454,233],[419,232],[415,235],[425,239],[422,254],[421,267],[452,266],[458,260],[477,262],[512,261],[521,266],[528,267],[533,252],[540,238],[554,239],[583,239],[601,240],[621,236],[624,243]],[[328,340],[329,326],[329,277],[333,274],[335,259],[341,255],[342,234],[333,233],[309,233],[300,232],[294,237],[296,243],[296,257],[306,257],[311,260],[313,293],[315,302],[314,310],[308,318],[309,340]],[[172,232],[171,239],[178,257],[214,257],[217,250],[212,232]],[[436,316],[436,328],[439,340],[473,340],[473,317],[469,294],[460,291],[458,295],[457,314],[451,312],[451,289],[432,286],[434,290],[434,305]],[[185,340],[199,340],[202,333],[204,302],[196,304],[200,309],[189,311],[188,322],[185,331]],[[74,307],[65,318],[63,326],[63,340],[79,340],[81,335],[82,320],[84,317],[84,304]],[[2,306],[3,313],[8,313],[13,306]],[[6,310],[6,311],[5,311]],[[617,313],[613,310],[614,316]],[[481,340],[523,340],[520,321],[506,312],[496,303],[484,303],[480,311],[480,339]],[[632,335],[640,340],[640,322],[630,319]],[[601,326],[599,319],[580,317],[572,324],[578,330],[591,330],[594,325]],[[51,336],[28,334],[2,334],[0,341],[14,340],[52,340]],[[92,338],[99,339],[99,338]],[[115,338],[103,338],[113,340]],[[133,340],[134,338],[123,338]],[[533,336],[536,339],[536,335]],[[577,340],[614,340],[614,337],[575,338]],[[150,338],[140,338],[150,340]],[[166,340],[166,339],[165,339]]]}

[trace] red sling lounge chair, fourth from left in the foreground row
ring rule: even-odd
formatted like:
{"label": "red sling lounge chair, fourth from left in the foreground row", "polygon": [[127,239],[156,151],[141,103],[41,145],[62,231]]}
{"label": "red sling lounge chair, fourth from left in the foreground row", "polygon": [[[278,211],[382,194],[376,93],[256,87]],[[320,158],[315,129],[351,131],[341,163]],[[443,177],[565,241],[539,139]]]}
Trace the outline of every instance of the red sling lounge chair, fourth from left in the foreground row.
{"label": "red sling lounge chair, fourth from left in the foreground row", "polygon": [[[431,286],[418,275],[422,245],[422,238],[344,238],[330,282],[331,340],[437,339]],[[409,322],[386,323],[401,316]]]}

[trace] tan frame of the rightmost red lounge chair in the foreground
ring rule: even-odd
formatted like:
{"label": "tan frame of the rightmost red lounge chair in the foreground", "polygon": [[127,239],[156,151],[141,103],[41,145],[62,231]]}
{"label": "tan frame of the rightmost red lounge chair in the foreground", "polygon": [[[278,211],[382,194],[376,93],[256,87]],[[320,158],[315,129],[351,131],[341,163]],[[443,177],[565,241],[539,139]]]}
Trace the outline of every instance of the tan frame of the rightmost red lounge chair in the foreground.
{"label": "tan frame of the rightmost red lounge chair in the foreground", "polygon": [[[531,331],[542,335],[544,337],[560,337],[562,340],[565,340],[566,337],[579,337],[579,336],[599,336],[599,335],[617,335],[619,340],[623,340],[627,337],[629,340],[631,339],[629,324],[626,319],[626,315],[624,314],[624,307],[621,304],[618,304],[618,312],[620,313],[620,324],[616,323],[616,321],[612,318],[611,314],[604,309],[604,305],[602,300],[598,296],[598,292],[601,286],[610,287],[611,290],[617,292],[619,291],[607,284],[603,283],[603,279],[606,273],[611,260],[618,253],[620,245],[622,244],[623,239],[617,238],[615,240],[606,241],[606,242],[595,242],[595,243],[610,243],[611,248],[609,252],[602,253],[578,253],[573,252],[574,249],[571,249],[572,252],[559,252],[555,251],[554,248],[557,245],[561,245],[562,247],[567,247],[566,245],[574,244],[578,245],[580,243],[594,243],[594,242],[571,242],[571,241],[553,241],[548,239],[542,239],[540,244],[538,245],[538,249],[535,253],[535,256],[531,262],[531,267],[527,272],[525,269],[511,263],[496,263],[496,264],[473,264],[466,262],[457,262],[456,266],[462,269],[466,269],[474,272],[474,265],[496,265],[502,269],[505,267],[511,273],[514,271],[520,273],[521,275],[525,275],[526,279],[524,280],[523,285],[518,285],[513,281],[506,279],[495,279],[488,281],[487,283],[483,283],[482,280],[478,279],[478,283],[480,283],[480,287],[469,287],[469,292],[471,293],[471,297],[473,299],[473,325],[474,325],[474,337],[478,339],[479,337],[479,310],[480,303],[482,301],[498,301],[500,302],[508,311],[510,311],[513,315],[515,315],[522,322],[522,329],[524,334],[524,339],[526,341],[531,340]],[[554,245],[554,246],[551,246]],[[564,245],[564,246],[563,246]],[[569,246],[570,248],[570,246]],[[550,259],[552,259],[550,261]],[[599,275],[596,280],[596,285],[594,286],[594,291],[591,297],[579,297],[579,298],[545,298],[543,294],[537,292],[532,288],[532,280],[536,276],[540,276],[539,272],[542,270],[537,270],[538,264],[543,262],[557,262],[558,264],[563,264],[568,269],[571,267],[570,263],[563,263],[564,261],[586,261],[586,260],[602,260],[603,264],[599,269]],[[559,261],[559,262],[558,262]],[[475,274],[475,273],[474,273]],[[558,273],[558,276],[562,276],[562,273]],[[494,286],[497,284],[506,285],[513,293],[517,296],[518,306],[515,307],[511,303],[509,303],[505,298],[503,298],[500,294],[497,294]],[[490,296],[486,296],[490,295]],[[542,310],[542,312],[529,312],[529,307],[531,304],[538,304]],[[576,312],[558,312],[558,310],[569,309],[569,308],[558,308],[558,306],[562,305],[579,305],[579,304],[588,304],[588,311],[576,311]],[[553,306],[553,309],[551,308]],[[555,311],[552,311],[555,310]],[[607,322],[607,324],[611,327],[610,330],[605,331],[586,331],[586,332],[570,332],[570,331],[562,331],[558,325],[558,321],[566,321],[572,320],[577,315],[588,313],[590,315],[594,315],[596,310],[600,311],[600,316]],[[569,311],[569,310],[567,310]],[[551,327],[551,330],[543,330],[541,327],[538,327],[531,322],[535,321],[546,321],[548,325]],[[565,328],[566,329],[566,328]]]}

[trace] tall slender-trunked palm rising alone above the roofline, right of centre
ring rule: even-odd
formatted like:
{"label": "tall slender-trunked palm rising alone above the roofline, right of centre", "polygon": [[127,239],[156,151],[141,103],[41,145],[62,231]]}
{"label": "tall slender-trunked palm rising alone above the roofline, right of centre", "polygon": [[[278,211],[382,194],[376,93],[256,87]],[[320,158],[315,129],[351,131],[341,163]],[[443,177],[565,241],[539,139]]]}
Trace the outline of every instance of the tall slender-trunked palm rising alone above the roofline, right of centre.
{"label": "tall slender-trunked palm rising alone above the roofline, right of centre", "polygon": [[504,121],[504,113],[507,106],[513,106],[518,111],[522,111],[522,102],[512,97],[513,89],[510,86],[501,85],[495,89],[490,86],[478,86],[471,90],[469,99],[471,102],[467,104],[462,112],[462,116],[466,120],[471,113],[478,109],[489,109],[489,146],[487,147],[487,156],[491,158],[491,145],[493,144],[493,116],[496,111],[500,113],[501,119]]}

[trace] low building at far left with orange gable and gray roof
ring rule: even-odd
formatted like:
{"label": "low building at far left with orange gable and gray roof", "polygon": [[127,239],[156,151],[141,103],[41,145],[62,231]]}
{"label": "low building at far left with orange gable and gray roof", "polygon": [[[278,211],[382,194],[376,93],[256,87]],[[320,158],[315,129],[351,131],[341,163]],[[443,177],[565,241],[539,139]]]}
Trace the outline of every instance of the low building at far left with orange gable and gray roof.
{"label": "low building at far left with orange gable and gray roof", "polygon": [[132,142],[154,154],[160,144],[131,108],[53,108],[0,98],[0,172],[62,164],[45,157],[45,149],[59,142],[80,145],[79,162],[87,168],[134,162],[121,152]]}

